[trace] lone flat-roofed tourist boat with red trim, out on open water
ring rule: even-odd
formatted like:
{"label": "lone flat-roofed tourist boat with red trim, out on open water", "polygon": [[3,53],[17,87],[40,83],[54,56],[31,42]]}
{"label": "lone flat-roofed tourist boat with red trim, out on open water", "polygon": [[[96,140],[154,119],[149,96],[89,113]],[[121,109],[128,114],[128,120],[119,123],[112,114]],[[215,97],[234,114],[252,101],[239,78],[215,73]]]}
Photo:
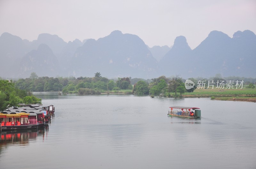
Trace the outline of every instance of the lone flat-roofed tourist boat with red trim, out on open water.
{"label": "lone flat-roofed tourist boat with red trim, out on open water", "polygon": [[[180,106],[171,106],[171,110],[168,110],[168,116],[178,116],[178,117],[201,117],[201,110],[197,107],[180,107]],[[195,110],[195,111],[193,111]]]}

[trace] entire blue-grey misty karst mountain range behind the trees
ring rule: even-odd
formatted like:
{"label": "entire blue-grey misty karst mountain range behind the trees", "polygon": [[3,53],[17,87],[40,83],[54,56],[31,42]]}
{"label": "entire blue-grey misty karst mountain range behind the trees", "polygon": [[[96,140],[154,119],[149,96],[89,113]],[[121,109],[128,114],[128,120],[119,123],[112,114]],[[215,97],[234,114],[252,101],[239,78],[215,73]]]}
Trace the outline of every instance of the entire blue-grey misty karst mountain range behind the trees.
{"label": "entire blue-grey misty karst mountain range behind the trees", "polygon": [[65,42],[57,35],[40,34],[32,42],[10,33],[0,36],[2,78],[38,76],[151,79],[161,75],[189,77],[255,77],[256,35],[249,30],[227,34],[212,31],[195,49],[184,36],[171,47],[148,47],[140,37],[113,31],[95,39]]}

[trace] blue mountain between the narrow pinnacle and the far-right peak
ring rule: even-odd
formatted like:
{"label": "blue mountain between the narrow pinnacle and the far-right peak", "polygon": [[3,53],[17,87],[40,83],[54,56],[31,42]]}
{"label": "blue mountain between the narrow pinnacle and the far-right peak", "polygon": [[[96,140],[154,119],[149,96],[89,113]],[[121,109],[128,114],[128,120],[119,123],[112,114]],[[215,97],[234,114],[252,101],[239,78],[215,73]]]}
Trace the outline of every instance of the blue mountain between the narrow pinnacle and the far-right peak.
{"label": "blue mountain between the narrow pinnacle and the far-right peak", "polygon": [[225,33],[212,31],[199,46],[197,46],[191,57],[194,61],[191,65],[191,74],[201,74],[202,76],[214,76],[218,72],[225,74],[229,58],[232,59],[232,39]]}

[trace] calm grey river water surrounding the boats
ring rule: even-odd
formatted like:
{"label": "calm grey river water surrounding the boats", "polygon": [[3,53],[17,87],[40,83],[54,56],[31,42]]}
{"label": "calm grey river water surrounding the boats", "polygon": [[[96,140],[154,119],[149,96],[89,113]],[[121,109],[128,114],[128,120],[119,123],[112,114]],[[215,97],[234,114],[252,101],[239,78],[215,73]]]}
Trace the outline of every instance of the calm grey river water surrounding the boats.
{"label": "calm grey river water surrounding the boats", "polygon": [[[1,134],[0,168],[256,168],[256,103],[34,93],[46,129]],[[202,118],[167,116],[199,107]]]}

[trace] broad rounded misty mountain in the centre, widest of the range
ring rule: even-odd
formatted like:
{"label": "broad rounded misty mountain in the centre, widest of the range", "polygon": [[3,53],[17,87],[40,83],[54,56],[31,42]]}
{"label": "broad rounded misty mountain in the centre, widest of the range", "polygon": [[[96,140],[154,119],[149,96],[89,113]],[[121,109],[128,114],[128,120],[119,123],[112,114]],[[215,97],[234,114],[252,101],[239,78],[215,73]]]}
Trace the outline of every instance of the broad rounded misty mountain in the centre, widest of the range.
{"label": "broad rounded misty mountain in the centre, widest of the range", "polygon": [[113,31],[97,41],[88,39],[77,48],[71,67],[75,76],[100,72],[107,77],[153,77],[157,61],[137,35]]}

